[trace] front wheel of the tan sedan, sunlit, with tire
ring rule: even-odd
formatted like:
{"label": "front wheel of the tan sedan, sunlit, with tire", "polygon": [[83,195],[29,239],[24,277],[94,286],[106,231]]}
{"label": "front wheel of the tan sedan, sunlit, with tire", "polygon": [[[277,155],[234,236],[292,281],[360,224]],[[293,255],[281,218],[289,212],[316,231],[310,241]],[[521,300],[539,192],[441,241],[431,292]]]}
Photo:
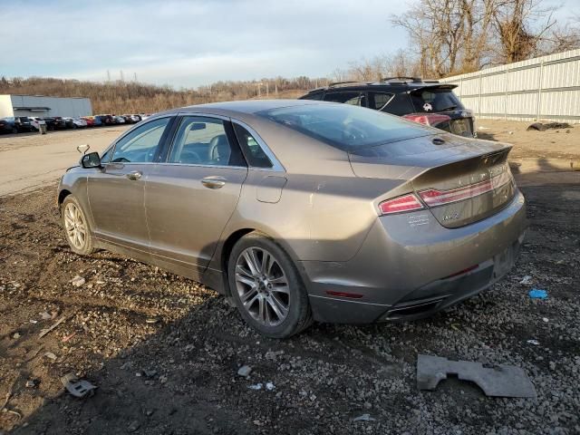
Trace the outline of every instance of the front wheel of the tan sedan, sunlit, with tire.
{"label": "front wheel of the tan sedan, sunlit, with tire", "polygon": [[79,201],[69,195],[61,205],[64,237],[75,254],[89,256],[94,252],[91,228]]}

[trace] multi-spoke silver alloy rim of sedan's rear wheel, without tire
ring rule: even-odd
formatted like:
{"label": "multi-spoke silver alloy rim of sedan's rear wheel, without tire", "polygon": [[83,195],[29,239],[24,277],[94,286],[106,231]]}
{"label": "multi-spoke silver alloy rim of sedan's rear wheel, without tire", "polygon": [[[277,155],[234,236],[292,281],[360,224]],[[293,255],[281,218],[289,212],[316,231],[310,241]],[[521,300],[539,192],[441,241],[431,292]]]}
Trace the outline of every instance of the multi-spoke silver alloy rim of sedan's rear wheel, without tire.
{"label": "multi-spoke silver alloy rim of sedan's rear wheel, without tire", "polygon": [[276,326],[284,322],[290,307],[286,274],[271,252],[247,247],[237,257],[236,287],[244,309],[257,322]]}

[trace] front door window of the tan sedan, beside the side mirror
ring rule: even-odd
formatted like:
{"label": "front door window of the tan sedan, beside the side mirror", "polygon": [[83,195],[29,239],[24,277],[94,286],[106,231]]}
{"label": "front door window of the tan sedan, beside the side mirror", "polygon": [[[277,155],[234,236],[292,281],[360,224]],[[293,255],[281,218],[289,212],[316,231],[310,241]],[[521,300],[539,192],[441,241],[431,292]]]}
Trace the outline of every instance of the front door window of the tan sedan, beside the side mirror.
{"label": "front door window of the tan sedan, beside the side mirror", "polygon": [[[121,138],[111,156],[111,162],[117,163],[150,163],[160,145],[163,132],[171,118],[160,118],[150,121]],[[104,157],[104,156],[103,156]]]}

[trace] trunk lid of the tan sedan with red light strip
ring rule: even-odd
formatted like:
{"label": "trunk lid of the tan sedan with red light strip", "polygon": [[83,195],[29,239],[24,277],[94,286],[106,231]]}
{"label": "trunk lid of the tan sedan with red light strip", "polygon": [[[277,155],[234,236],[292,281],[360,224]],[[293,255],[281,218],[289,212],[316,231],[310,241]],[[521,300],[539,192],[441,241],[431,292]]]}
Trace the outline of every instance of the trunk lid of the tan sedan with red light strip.
{"label": "trunk lid of the tan sedan with red light strip", "polygon": [[406,179],[408,192],[443,227],[455,228],[488,218],[514,197],[510,150],[498,142],[442,134],[352,150],[349,158],[358,177]]}

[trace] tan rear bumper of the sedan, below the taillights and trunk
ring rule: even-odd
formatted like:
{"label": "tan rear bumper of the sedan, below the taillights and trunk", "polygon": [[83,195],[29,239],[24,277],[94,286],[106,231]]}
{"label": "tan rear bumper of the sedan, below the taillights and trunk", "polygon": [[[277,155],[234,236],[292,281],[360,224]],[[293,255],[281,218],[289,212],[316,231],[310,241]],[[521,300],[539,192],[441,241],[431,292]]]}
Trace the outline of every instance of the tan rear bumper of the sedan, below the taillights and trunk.
{"label": "tan rear bumper of the sedan, below the taillights and trunk", "polygon": [[520,192],[496,215],[465,227],[441,227],[424,211],[379,218],[350,261],[301,263],[314,319],[372,323],[434,314],[506,275],[526,227]]}

